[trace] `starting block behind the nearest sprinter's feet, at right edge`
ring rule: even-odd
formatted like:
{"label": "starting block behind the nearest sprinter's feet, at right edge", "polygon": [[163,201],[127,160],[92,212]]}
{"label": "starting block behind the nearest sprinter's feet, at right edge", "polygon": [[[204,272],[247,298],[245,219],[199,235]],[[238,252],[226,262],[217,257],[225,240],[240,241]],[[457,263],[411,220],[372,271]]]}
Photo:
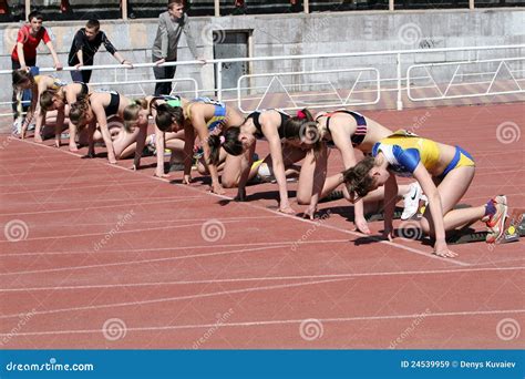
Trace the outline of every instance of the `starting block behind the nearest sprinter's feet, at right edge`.
{"label": "starting block behind the nearest sprinter's feet, at right edge", "polygon": [[[505,219],[505,232],[496,240],[496,244],[507,244],[519,240],[525,235],[525,209],[514,209]],[[476,242],[485,242],[487,232],[476,232],[469,226],[456,231],[452,236],[446,238],[449,245],[469,244]]]}

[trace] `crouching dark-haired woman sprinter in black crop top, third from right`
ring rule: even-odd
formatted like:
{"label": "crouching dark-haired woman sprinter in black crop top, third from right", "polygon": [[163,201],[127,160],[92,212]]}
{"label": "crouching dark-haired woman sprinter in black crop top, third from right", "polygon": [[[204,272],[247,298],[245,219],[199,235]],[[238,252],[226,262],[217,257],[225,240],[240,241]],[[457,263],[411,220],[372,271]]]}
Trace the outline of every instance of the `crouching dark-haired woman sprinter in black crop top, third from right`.
{"label": "crouching dark-haired woman sprinter in black crop top, third from right", "polygon": [[[212,163],[216,166],[219,162],[228,158],[227,154],[238,156],[236,160],[230,158],[235,163],[228,165],[222,176],[223,183],[233,183],[238,186],[238,199],[244,199],[246,196],[245,187],[248,180],[255,176],[261,167],[268,167],[269,174],[275,176],[279,187],[279,212],[294,214],[295,211],[288,201],[286,167],[302,160],[306,152],[282,144],[284,124],[288,119],[290,119],[288,114],[278,110],[256,111],[250,113],[240,126],[228,127],[220,135],[210,135],[208,144]],[[256,165],[255,170],[250,170],[256,141],[262,137],[268,141],[270,154],[259,165]],[[240,157],[240,155],[243,156]]]}

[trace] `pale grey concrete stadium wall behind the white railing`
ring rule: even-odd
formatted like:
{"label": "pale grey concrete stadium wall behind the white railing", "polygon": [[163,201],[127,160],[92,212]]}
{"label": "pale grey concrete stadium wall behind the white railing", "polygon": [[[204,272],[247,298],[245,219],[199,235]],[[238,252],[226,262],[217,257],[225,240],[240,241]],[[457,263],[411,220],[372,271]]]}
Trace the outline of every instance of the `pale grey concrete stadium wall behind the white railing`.
{"label": "pale grey concrete stadium wall behind the white railing", "polygon": [[[251,31],[253,55],[286,55],[308,53],[366,52],[397,49],[452,48],[471,45],[517,44],[525,41],[524,9],[491,10],[434,10],[434,11],[397,11],[397,12],[337,12],[315,14],[272,14],[238,16],[223,18],[193,18],[192,32],[195,35],[199,54],[205,59],[214,57],[212,31],[243,30]],[[45,22],[51,30],[54,44],[63,63],[66,62],[72,38],[80,21]],[[102,30],[106,32],[115,47],[134,62],[150,62],[151,47],[155,37],[156,19],[103,21]],[[19,24],[0,25],[0,64],[10,69],[9,54],[12,50]],[[179,45],[179,60],[193,59],[183,38]],[[41,47],[39,65],[51,65],[47,49]],[[103,48],[101,49],[103,50]],[[45,53],[45,54],[43,54]],[[516,51],[488,51],[483,58],[516,55]],[[523,51],[522,51],[523,53]],[[503,55],[502,55],[503,54]],[[447,61],[464,59],[464,53],[439,53],[408,58],[404,64],[422,61]],[[116,63],[105,52],[100,52],[95,64]],[[336,69],[373,65],[381,71],[382,78],[395,75],[394,57],[371,57],[359,59],[318,60],[312,62],[317,69]],[[301,69],[305,62],[281,61],[255,63],[256,72],[280,72],[289,69]],[[309,64],[309,63],[308,63]],[[59,73],[70,79],[69,73]],[[117,74],[123,78],[123,72]],[[191,76],[199,82],[200,88],[214,88],[214,71],[205,68],[182,66],[177,76]],[[151,69],[128,71],[130,79],[153,79]],[[97,71],[93,82],[113,81],[113,71]],[[10,99],[9,76],[1,78],[3,89],[0,101]],[[9,90],[7,91],[7,89]],[[151,86],[144,91],[150,92]]]}

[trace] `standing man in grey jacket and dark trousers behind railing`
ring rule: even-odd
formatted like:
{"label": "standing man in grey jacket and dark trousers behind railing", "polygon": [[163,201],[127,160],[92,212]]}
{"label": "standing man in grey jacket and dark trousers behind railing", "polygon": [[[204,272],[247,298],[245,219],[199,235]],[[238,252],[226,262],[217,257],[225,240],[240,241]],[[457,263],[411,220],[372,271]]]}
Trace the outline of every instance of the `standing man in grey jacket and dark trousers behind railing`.
{"label": "standing man in grey jacket and dark trousers behind railing", "polygon": [[[158,17],[158,28],[155,41],[153,42],[153,68],[155,79],[173,79],[175,76],[176,66],[158,66],[165,62],[174,62],[177,60],[177,45],[181,34],[186,34],[186,41],[192,54],[197,58],[197,48],[188,30],[188,17],[184,13],[183,0],[169,0],[167,11]],[[172,83],[156,83],[155,95],[169,94],[172,92]]]}

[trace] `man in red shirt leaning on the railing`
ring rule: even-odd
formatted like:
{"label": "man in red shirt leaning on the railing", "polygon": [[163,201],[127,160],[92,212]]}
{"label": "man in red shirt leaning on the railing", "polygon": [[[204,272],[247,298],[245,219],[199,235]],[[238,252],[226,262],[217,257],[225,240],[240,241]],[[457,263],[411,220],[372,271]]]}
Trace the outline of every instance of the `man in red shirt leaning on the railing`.
{"label": "man in red shirt leaning on the railing", "polygon": [[[53,42],[48,31],[42,27],[43,16],[39,11],[29,13],[29,23],[25,23],[18,31],[17,44],[11,53],[11,68],[13,70],[28,70],[29,66],[37,65],[37,48],[43,40],[53,57],[54,68],[62,70],[62,64],[53,48]],[[13,86],[13,113],[17,119],[17,91]]]}

